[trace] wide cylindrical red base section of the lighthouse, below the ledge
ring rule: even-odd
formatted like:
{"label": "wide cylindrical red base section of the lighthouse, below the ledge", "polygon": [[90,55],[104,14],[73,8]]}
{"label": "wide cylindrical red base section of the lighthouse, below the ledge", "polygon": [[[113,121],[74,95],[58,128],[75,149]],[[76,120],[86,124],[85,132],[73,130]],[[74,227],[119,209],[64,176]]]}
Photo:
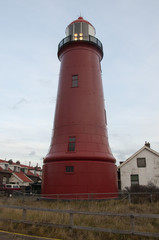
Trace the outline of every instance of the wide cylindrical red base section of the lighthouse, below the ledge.
{"label": "wide cylindrical red base section of the lighthouse, below the ledge", "polygon": [[[69,167],[72,171],[67,172]],[[42,194],[51,199],[117,198],[116,171],[115,164],[106,161],[48,162]]]}

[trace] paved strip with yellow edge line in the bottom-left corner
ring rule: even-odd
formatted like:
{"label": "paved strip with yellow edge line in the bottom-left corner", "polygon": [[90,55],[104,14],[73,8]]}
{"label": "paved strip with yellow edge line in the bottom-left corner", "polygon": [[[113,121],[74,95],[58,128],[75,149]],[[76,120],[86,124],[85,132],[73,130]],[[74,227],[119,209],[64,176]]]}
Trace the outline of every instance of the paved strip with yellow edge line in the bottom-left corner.
{"label": "paved strip with yellow edge line in the bottom-left corner", "polygon": [[30,236],[0,230],[0,240],[60,240],[60,239]]}

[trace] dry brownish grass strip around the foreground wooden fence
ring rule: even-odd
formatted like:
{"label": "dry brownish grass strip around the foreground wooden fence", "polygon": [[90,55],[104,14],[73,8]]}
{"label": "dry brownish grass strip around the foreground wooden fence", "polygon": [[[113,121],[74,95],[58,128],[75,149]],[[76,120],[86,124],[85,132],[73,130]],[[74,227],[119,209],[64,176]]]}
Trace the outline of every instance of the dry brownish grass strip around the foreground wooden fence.
{"label": "dry brownish grass strip around the foreground wooden fence", "polygon": [[[89,212],[112,212],[112,213],[153,213],[159,214],[159,202],[156,203],[143,203],[143,204],[130,204],[127,200],[109,200],[109,201],[35,201],[34,199],[16,199],[16,198],[3,198],[0,204],[18,205],[18,206],[32,206],[38,208],[49,209],[68,209],[76,211],[89,211]],[[17,209],[0,209],[0,216],[13,219],[21,219],[22,211]],[[48,212],[33,212],[28,211],[27,220],[51,222],[68,224],[68,214],[62,213],[48,213]],[[105,216],[84,216],[75,215],[74,223],[76,225],[91,226],[91,227],[105,227],[110,229],[130,229],[130,219],[123,217],[105,217]],[[24,224],[0,222],[0,228],[3,230],[21,232],[26,234],[33,234],[45,237],[54,237],[59,239],[71,240],[104,240],[104,239],[153,239],[141,236],[129,236],[109,233],[99,233],[84,230],[67,230],[55,229],[52,227],[43,226],[25,226]],[[149,231],[158,232],[159,220],[156,219],[137,219],[135,222],[136,231]]]}

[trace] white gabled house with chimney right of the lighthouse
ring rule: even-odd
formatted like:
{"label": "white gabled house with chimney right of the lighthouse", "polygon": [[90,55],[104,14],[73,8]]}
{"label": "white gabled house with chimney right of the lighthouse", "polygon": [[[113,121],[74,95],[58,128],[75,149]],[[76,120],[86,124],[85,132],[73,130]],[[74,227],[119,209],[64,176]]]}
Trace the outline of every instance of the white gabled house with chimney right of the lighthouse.
{"label": "white gabled house with chimney right of the lighthouse", "polygon": [[159,187],[159,153],[145,145],[118,166],[121,190],[132,185],[153,183]]}

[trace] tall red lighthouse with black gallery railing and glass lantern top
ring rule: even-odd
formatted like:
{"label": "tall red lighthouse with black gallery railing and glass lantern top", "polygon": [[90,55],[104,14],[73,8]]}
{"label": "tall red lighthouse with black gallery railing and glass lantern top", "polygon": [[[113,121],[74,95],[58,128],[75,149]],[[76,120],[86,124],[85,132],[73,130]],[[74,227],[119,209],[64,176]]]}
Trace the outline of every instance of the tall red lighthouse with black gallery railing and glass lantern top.
{"label": "tall red lighthouse with black gallery railing and glass lantern top", "polygon": [[102,43],[79,17],[59,43],[61,61],[53,135],[42,193],[55,198],[109,198],[117,193],[101,79]]}

